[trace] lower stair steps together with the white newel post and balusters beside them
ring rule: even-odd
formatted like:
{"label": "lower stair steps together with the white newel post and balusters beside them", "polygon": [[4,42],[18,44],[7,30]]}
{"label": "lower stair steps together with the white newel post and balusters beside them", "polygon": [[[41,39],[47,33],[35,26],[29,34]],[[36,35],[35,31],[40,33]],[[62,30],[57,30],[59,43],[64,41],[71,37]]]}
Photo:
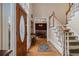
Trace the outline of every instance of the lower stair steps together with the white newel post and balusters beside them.
{"label": "lower stair steps together with the white newel post and balusters beside them", "polygon": [[79,56],[79,40],[78,36],[74,35],[74,32],[67,31],[65,32],[65,39],[67,44],[67,53],[69,56]]}

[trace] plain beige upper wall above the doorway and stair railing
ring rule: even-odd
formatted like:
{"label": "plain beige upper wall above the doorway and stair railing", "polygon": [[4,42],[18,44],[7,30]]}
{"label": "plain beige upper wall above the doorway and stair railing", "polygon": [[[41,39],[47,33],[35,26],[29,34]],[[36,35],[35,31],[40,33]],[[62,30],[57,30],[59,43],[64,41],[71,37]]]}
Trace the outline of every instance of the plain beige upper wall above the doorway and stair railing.
{"label": "plain beige upper wall above the doorway and stair railing", "polygon": [[66,3],[34,3],[32,4],[33,15],[37,17],[49,17],[53,11],[60,21],[65,24],[65,13],[68,9]]}

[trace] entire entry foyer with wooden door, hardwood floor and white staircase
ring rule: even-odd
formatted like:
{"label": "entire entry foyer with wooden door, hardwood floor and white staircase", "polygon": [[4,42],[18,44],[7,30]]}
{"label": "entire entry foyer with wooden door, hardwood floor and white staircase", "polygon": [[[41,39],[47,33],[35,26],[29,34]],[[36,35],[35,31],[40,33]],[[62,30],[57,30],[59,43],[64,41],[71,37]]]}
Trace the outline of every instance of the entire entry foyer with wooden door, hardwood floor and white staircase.
{"label": "entire entry foyer with wooden door, hardwood floor and white staircase", "polygon": [[0,3],[0,56],[79,56],[78,3]]}

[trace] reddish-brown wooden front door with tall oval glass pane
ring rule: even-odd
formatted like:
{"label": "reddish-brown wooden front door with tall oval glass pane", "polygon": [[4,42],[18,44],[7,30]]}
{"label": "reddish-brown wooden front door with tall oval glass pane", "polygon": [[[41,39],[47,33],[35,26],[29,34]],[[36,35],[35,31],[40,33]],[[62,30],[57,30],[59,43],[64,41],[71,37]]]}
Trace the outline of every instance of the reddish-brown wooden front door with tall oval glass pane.
{"label": "reddish-brown wooden front door with tall oval glass pane", "polygon": [[[21,20],[21,17],[24,20]],[[24,21],[23,23],[24,29],[22,26],[20,26],[21,22],[23,21]],[[23,34],[23,30],[24,30],[24,34]],[[23,38],[21,38],[21,36]],[[27,53],[27,14],[19,4],[16,4],[16,55],[25,56],[26,53]]]}

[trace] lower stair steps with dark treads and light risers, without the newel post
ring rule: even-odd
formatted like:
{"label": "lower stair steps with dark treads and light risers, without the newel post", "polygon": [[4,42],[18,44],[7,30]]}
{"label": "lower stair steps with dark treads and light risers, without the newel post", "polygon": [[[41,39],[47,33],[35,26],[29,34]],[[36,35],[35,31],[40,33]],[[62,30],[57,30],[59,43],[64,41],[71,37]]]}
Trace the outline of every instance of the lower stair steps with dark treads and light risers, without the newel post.
{"label": "lower stair steps with dark treads and light risers, without the newel post", "polygon": [[71,35],[69,36],[69,53],[70,56],[79,56],[79,40],[77,36],[72,34],[73,32],[71,32]]}

